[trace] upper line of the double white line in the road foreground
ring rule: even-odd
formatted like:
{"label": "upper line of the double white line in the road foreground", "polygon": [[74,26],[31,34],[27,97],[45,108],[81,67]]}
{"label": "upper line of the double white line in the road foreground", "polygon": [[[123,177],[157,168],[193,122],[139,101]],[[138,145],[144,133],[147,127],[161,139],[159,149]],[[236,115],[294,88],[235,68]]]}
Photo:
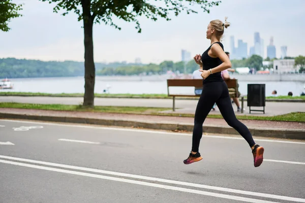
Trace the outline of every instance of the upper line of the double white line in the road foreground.
{"label": "upper line of the double white line in the road foreground", "polygon": [[120,176],[120,177],[128,177],[128,178],[134,178],[134,179],[140,179],[140,180],[156,181],[156,182],[161,182],[161,183],[169,183],[169,184],[175,184],[175,185],[183,185],[183,186],[191,186],[191,187],[204,188],[204,189],[210,189],[210,190],[231,192],[231,193],[237,193],[237,194],[246,194],[246,195],[253,195],[253,196],[273,198],[273,199],[281,199],[281,200],[288,200],[288,201],[305,202],[305,199],[296,198],[296,197],[288,197],[288,196],[281,196],[281,195],[275,195],[275,194],[267,194],[267,193],[260,193],[260,192],[251,192],[251,191],[236,190],[236,189],[230,189],[230,188],[224,188],[224,187],[216,187],[216,186],[201,185],[201,184],[181,182],[181,181],[173,181],[173,180],[167,180],[167,179],[161,179],[161,178],[154,178],[154,177],[139,176],[139,175],[133,175],[133,174],[125,174],[125,173],[104,171],[104,170],[98,170],[98,169],[95,169],[95,168],[87,168],[87,167],[66,165],[66,164],[60,164],[60,163],[52,163],[52,162],[45,162],[45,161],[37,161],[37,160],[31,160],[31,159],[17,158],[17,157],[12,157],[12,156],[0,155],[0,158],[16,160],[16,161],[23,161],[23,162],[29,162],[29,163],[37,163],[37,164],[43,164],[43,165],[48,165],[48,166],[56,166],[56,167],[62,167],[62,168],[69,168],[69,169],[79,170],[79,171],[94,172],[94,173],[114,175],[114,176]]}

